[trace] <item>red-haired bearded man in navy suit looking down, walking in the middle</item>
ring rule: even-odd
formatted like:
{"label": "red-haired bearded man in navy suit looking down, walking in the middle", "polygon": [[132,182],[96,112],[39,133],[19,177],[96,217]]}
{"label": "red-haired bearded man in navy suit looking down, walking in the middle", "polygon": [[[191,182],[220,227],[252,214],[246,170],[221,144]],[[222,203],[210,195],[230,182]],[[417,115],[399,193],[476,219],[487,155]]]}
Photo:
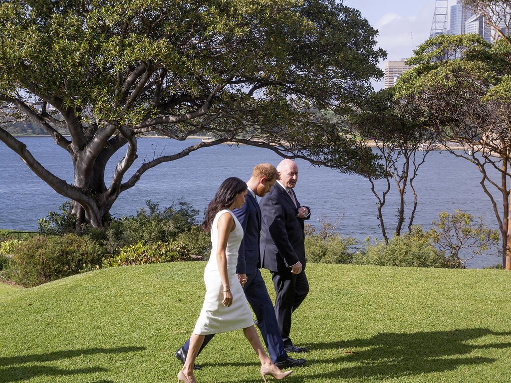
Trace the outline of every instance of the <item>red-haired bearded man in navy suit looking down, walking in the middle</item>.
{"label": "red-haired bearded man in navy suit looking down, walking in the middle", "polygon": [[[293,359],[287,355],[273,310],[273,303],[259,271],[261,267],[259,254],[261,209],[257,202],[257,197],[263,197],[271,190],[277,176],[277,170],[269,163],[255,166],[247,182],[248,193],[245,203],[240,209],[233,211],[238,221],[240,221],[244,232],[238,254],[236,273],[238,274],[238,280],[243,286],[247,301],[252,307],[255,318],[257,318],[257,325],[261,330],[272,362],[278,368],[287,368],[298,367],[306,361],[305,359]],[[213,336],[214,334],[205,336],[199,353]],[[190,340],[177,350],[175,354],[182,363],[186,359],[189,346]],[[199,369],[197,366],[194,366],[194,368]]]}

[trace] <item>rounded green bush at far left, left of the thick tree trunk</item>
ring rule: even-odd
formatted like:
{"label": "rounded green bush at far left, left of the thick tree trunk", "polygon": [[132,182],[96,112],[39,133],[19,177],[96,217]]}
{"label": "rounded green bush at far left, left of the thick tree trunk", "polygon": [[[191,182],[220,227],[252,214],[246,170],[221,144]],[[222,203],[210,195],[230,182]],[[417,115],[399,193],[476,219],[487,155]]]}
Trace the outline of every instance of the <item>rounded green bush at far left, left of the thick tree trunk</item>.
{"label": "rounded green bush at far left, left of the thick tree trunk", "polygon": [[9,277],[31,287],[99,268],[100,246],[87,236],[35,236],[14,247]]}

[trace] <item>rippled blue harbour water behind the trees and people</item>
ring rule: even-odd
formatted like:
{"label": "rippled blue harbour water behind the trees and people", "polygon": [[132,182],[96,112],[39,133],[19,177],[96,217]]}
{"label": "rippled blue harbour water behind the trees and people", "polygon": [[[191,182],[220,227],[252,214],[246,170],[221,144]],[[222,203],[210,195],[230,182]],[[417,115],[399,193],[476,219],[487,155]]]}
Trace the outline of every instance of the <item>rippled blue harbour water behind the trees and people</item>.
{"label": "rippled blue harbour water behind the trees and people", "polygon": [[[21,140],[47,169],[72,182],[73,165],[69,154],[56,146],[50,137],[25,137]],[[144,159],[149,161],[155,154],[160,153],[173,154],[196,142],[199,140],[179,142],[166,138],[140,139],[138,159],[125,180]],[[117,161],[122,157],[123,152],[119,151],[117,157],[114,156],[109,162],[107,184]],[[249,146],[218,145],[199,149],[187,157],[160,164],[147,171],[134,187],[121,194],[113,204],[111,213],[121,217],[135,213],[148,199],[166,207],[180,198],[189,201],[202,212],[223,179],[236,176],[246,180],[255,164],[271,162],[276,165],[280,160],[280,157],[269,150]],[[342,216],[337,231],[343,235],[351,235],[361,241],[366,236],[382,237],[377,219],[376,199],[370,191],[367,179],[341,174],[324,167],[314,167],[303,160],[296,162],[299,166],[299,178],[295,192],[301,204],[311,207],[310,223],[313,226],[319,227],[321,219],[334,222]],[[57,210],[65,198],[37,178],[2,142],[0,164],[0,228],[36,230],[37,219],[46,216],[48,211]],[[415,181],[419,206],[414,224],[427,229],[440,211],[452,212],[461,209],[474,216],[482,216],[489,227],[498,228],[490,200],[484,194],[479,181],[480,174],[469,161],[447,152],[432,152]],[[382,182],[378,183],[378,186],[384,187]],[[411,192],[407,199],[406,208],[410,209]],[[397,189],[392,185],[384,210],[388,233],[392,233],[396,226],[398,201]],[[497,202],[501,206],[498,199]],[[407,226],[405,223],[405,228]],[[493,253],[495,255],[476,257],[468,266],[480,268],[499,263],[501,258],[498,248]]]}

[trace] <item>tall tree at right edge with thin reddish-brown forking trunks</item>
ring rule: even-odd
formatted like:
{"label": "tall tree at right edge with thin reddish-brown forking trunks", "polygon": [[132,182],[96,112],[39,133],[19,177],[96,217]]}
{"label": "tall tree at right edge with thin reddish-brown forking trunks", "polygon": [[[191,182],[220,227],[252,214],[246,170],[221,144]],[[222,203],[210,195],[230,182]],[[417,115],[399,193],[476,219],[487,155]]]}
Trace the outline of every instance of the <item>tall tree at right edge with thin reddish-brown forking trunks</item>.
{"label": "tall tree at right edge with thin reddish-brown forking trunks", "polygon": [[[445,59],[453,56],[458,58]],[[397,95],[423,109],[447,149],[453,141],[464,146],[450,151],[481,173],[502,235],[502,264],[511,270],[511,43],[501,38],[490,44],[478,35],[437,36],[408,62],[415,67],[396,84]]]}

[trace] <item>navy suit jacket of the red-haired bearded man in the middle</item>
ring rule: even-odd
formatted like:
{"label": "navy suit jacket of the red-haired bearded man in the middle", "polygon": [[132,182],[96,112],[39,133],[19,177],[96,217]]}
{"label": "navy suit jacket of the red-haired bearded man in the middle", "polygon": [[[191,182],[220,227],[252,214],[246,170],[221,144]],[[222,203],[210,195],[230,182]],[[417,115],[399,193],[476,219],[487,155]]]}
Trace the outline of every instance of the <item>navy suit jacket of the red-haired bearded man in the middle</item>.
{"label": "navy suit jacket of the red-haired bearded man in the middle", "polygon": [[240,221],[244,232],[236,273],[255,274],[261,268],[259,257],[261,209],[252,194],[248,192],[243,206],[240,209],[234,209],[233,213]]}

